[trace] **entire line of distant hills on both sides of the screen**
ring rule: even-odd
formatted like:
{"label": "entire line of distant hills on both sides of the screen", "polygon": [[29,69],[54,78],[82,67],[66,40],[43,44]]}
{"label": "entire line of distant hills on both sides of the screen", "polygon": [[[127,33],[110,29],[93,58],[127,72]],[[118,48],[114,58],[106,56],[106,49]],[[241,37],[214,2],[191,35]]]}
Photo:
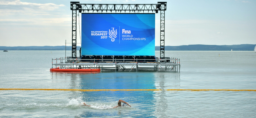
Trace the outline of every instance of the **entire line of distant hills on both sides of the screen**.
{"label": "entire line of distant hills on both sides of the screen", "polygon": [[[241,45],[182,45],[182,46],[165,46],[164,50],[202,50],[202,51],[253,51],[256,44]],[[77,46],[77,50],[81,47]],[[17,46],[6,47],[0,46],[0,50],[65,50],[65,46]],[[67,50],[71,50],[71,46],[67,46]],[[160,50],[160,46],[156,46],[155,50]]]}

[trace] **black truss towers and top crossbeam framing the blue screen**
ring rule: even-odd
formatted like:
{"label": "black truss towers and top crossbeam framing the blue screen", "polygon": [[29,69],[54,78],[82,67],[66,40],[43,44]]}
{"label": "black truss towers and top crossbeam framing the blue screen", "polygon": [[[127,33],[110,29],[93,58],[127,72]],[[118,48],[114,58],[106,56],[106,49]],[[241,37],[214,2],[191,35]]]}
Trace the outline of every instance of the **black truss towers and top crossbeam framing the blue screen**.
{"label": "black truss towers and top crossbeam framing the blue screen", "polygon": [[[86,13],[96,11],[103,13],[110,11],[112,13],[148,13],[151,11],[158,13],[160,11],[160,58],[164,58],[164,17],[167,2],[157,2],[157,4],[80,4],[79,2],[70,2],[72,10],[72,58],[76,58],[76,11]],[[122,12],[123,13],[123,12]]]}

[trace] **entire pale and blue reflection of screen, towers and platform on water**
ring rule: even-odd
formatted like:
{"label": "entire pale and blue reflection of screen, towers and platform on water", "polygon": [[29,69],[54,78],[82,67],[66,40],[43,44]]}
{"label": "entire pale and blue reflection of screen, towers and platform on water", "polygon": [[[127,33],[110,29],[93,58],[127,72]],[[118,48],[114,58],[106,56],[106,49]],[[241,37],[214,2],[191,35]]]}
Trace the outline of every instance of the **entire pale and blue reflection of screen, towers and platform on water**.
{"label": "entire pale and blue reflection of screen, towers and platform on water", "polygon": [[[101,72],[101,73],[52,73],[53,80],[67,79],[69,89],[172,89],[180,87],[180,73],[164,72]],[[158,117],[168,116],[166,91],[70,91],[67,98],[76,99],[89,105],[117,105],[118,100],[128,102],[132,107],[100,109],[81,107],[81,117]],[[79,102],[79,103],[80,103]]]}

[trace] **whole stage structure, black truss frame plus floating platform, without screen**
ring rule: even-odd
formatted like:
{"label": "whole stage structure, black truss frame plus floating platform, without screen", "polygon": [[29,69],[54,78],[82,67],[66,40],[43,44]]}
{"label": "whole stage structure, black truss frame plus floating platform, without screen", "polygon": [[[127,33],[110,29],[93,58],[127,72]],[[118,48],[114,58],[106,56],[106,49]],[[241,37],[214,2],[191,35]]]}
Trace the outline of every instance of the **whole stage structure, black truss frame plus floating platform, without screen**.
{"label": "whole stage structure, black truss frame plus floating platform, without screen", "polygon": [[[167,2],[157,4],[80,4],[70,2],[72,10],[72,57],[52,59],[55,69],[100,69],[101,71],[180,71],[180,59],[164,56],[165,11]],[[160,11],[160,58],[151,56],[89,55],[76,57],[76,16],[78,13],[158,13]],[[80,50],[81,51],[81,50]],[[81,52],[80,52],[81,53]],[[81,55],[80,55],[81,56]],[[96,58],[96,59],[95,59]],[[116,59],[117,58],[117,59]],[[122,59],[123,58],[123,59]],[[56,63],[53,63],[56,61]]]}

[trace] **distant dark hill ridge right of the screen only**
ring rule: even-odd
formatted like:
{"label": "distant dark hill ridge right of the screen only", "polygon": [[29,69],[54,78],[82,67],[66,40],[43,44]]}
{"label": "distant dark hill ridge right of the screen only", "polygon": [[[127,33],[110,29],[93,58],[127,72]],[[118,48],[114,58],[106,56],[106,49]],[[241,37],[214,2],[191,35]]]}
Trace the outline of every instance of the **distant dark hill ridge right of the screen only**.
{"label": "distant dark hill ridge right of the screen only", "polygon": [[[182,45],[182,46],[165,46],[164,50],[202,50],[202,51],[253,51],[256,44],[241,45]],[[160,50],[156,46],[155,50]]]}

